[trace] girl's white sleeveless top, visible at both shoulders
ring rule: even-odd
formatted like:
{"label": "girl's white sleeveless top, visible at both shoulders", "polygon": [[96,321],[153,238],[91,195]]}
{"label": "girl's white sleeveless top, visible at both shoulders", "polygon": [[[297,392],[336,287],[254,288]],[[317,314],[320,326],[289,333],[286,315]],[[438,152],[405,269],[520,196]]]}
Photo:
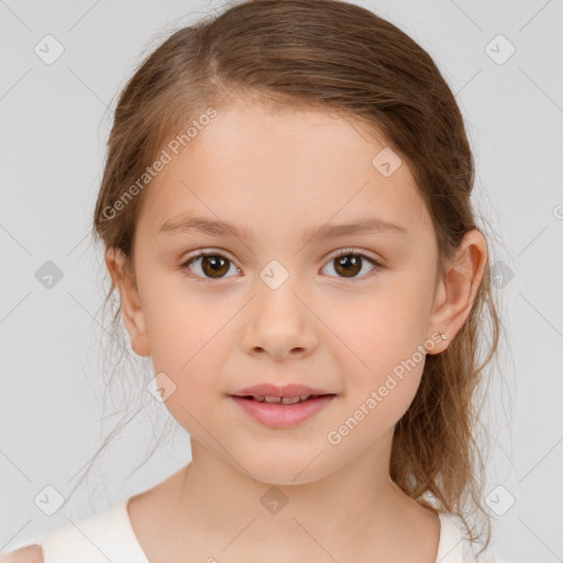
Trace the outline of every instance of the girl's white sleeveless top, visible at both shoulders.
{"label": "girl's white sleeveless top, visible at both shoulders", "polygon": [[[128,503],[125,498],[106,510],[40,536],[31,543],[42,545],[44,563],[150,563],[131,525]],[[435,563],[504,563],[490,556],[474,559],[455,522],[444,514],[439,514],[439,518]]]}

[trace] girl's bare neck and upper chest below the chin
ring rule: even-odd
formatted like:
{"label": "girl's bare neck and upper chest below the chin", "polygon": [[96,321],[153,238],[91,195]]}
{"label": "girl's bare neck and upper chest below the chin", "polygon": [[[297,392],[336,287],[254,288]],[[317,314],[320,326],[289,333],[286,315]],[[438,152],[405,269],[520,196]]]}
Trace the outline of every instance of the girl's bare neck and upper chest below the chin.
{"label": "girl's bare neck and upper chest below the chin", "polygon": [[416,554],[433,563],[439,521],[389,479],[391,438],[393,429],[320,479],[276,485],[192,439],[192,461],[168,479],[163,518],[155,518],[166,558],[251,562],[275,553],[276,561],[400,562]]}

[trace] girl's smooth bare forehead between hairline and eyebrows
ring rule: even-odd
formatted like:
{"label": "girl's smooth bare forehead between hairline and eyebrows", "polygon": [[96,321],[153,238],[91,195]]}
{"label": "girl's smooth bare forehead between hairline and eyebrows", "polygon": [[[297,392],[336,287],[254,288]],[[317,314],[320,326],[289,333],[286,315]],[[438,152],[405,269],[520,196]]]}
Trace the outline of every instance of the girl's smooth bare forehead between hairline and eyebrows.
{"label": "girl's smooth bare forehead between hairline and eyebrows", "polygon": [[[406,162],[352,117],[233,103],[150,186],[140,223],[153,234],[196,211],[257,232],[305,231],[367,211],[411,230],[429,225]],[[393,174],[382,174],[379,155],[390,157]]]}

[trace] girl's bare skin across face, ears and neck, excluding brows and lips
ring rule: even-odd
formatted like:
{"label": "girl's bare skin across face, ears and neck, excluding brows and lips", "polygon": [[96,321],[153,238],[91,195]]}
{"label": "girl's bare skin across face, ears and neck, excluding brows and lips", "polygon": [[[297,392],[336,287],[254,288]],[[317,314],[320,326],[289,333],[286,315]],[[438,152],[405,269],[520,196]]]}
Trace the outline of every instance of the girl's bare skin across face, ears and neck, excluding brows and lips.
{"label": "girl's bare skin across face, ears and neck, excluding brows and lips", "polygon": [[[372,159],[388,144],[351,118],[236,100],[196,141],[151,184],[136,225],[136,284],[120,253],[106,254],[132,347],[174,382],[165,406],[191,439],[192,461],[129,504],[143,550],[152,563],[434,562],[438,517],[388,477],[393,431],[424,356],[340,443],[327,437],[417,346],[445,350],[485,271],[483,235],[467,233],[438,278],[437,241],[411,172],[404,162],[382,175]],[[408,235],[302,239],[367,211]],[[185,212],[254,238],[158,234]],[[333,254],[345,247],[382,266],[364,258],[356,277],[344,277]],[[209,277],[202,260],[180,269],[198,250],[230,261],[222,278]],[[272,260],[289,273],[277,289],[260,277]],[[434,344],[442,332],[449,340]],[[227,396],[257,383],[338,396],[296,428],[271,429]],[[287,499],[277,514],[261,503],[273,485]]]}

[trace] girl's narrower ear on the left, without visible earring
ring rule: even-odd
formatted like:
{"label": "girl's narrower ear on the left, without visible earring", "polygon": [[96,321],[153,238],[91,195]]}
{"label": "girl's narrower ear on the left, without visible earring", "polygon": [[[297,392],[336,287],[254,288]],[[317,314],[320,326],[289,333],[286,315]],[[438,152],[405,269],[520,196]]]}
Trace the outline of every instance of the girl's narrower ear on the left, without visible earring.
{"label": "girl's narrower ear on the left, without visible earring", "polygon": [[141,356],[151,355],[146,333],[146,320],[134,280],[134,274],[125,267],[125,256],[119,249],[106,251],[106,266],[119,289],[121,314],[131,339],[131,347]]}

